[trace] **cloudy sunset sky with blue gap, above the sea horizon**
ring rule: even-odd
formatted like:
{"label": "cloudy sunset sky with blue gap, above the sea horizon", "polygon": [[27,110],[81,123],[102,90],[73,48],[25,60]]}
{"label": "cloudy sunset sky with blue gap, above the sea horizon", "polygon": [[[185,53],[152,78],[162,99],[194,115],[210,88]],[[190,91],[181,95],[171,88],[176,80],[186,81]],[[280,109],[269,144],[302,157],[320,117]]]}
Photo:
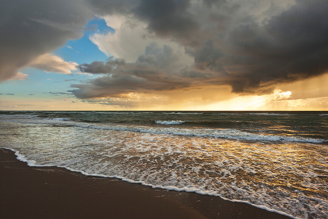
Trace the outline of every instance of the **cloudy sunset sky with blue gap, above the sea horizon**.
{"label": "cloudy sunset sky with blue gap, above the sea horizon", "polygon": [[328,110],[326,0],[3,0],[0,110]]}

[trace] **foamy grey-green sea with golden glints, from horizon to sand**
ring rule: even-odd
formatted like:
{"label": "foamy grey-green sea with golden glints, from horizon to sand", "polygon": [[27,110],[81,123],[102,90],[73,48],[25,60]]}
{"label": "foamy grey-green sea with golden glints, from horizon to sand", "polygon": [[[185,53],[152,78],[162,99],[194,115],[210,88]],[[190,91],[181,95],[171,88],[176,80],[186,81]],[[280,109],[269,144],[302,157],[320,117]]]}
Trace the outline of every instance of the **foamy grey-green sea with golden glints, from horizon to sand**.
{"label": "foamy grey-green sea with golden glints, from horizon to sand", "polygon": [[29,166],[328,218],[328,111],[0,111],[0,147]]}

